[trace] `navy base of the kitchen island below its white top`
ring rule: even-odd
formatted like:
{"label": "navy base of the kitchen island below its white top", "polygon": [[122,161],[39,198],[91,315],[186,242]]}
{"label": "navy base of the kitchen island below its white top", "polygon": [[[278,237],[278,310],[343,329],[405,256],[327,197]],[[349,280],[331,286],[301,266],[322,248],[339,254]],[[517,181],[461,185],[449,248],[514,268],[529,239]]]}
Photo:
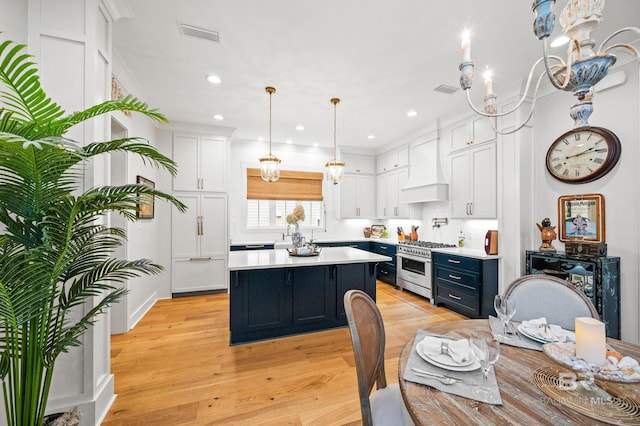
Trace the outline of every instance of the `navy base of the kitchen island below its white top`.
{"label": "navy base of the kitchen island below its white top", "polygon": [[231,344],[343,327],[350,289],[375,300],[376,264],[231,271]]}

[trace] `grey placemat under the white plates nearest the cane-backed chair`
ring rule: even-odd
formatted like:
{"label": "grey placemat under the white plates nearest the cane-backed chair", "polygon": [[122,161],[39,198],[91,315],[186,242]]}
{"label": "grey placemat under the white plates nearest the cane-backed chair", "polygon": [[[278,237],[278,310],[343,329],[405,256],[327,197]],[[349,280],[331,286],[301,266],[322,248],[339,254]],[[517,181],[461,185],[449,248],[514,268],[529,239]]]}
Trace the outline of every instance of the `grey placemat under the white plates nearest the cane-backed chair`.
{"label": "grey placemat under the white plates nearest the cane-backed chair", "polygon": [[[403,379],[408,380],[414,383],[420,383],[422,385],[427,385],[432,388],[438,389],[441,392],[452,393],[454,395],[462,396],[464,398],[473,399],[475,401],[484,402],[492,405],[502,405],[502,398],[500,397],[500,389],[498,389],[498,382],[496,380],[495,375],[495,365],[494,368],[489,371],[489,376],[487,377],[487,387],[489,393],[486,395],[474,395],[475,388],[482,388],[482,369],[477,369],[475,371],[451,371],[446,370],[444,368],[436,367],[433,364],[428,363],[423,360],[416,350],[416,345],[418,342],[422,341],[425,336],[439,336],[437,334],[429,333],[425,330],[418,330],[416,333],[416,337],[413,341],[413,347],[411,348],[411,353],[409,354],[409,359],[407,360],[407,365],[403,373]],[[498,362],[500,360],[498,359]],[[411,371],[411,368],[416,367],[422,370],[429,371],[431,373],[443,374],[445,376],[455,377],[460,380],[464,380],[467,382],[477,383],[477,386],[470,386],[468,384],[457,382],[451,385],[446,385],[440,382],[436,378],[428,378],[418,376]]]}

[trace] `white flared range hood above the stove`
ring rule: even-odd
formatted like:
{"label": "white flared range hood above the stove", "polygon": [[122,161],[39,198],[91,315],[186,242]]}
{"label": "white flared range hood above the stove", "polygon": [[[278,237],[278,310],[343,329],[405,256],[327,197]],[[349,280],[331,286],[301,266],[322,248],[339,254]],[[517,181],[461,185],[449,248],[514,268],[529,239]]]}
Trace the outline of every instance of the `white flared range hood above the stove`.
{"label": "white flared range hood above the stove", "polygon": [[411,145],[409,179],[400,189],[401,203],[447,201],[449,185],[442,177],[437,137]]}

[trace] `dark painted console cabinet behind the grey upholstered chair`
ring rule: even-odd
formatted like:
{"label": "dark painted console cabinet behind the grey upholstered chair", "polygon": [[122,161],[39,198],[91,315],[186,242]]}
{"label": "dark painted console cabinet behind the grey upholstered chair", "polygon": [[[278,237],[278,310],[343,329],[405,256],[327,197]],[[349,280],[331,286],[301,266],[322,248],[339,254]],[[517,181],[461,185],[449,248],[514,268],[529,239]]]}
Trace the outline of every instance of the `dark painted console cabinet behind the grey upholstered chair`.
{"label": "dark painted console cabinet behind the grey upholstered chair", "polygon": [[607,336],[620,338],[620,258],[526,251],[526,273],[547,274],[574,284],[598,310]]}

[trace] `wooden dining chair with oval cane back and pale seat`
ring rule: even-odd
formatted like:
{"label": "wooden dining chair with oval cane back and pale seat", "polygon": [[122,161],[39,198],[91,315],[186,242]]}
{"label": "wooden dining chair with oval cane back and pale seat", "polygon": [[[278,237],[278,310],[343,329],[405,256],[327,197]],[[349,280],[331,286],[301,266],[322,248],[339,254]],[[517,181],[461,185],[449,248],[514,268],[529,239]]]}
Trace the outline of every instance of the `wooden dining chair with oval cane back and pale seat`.
{"label": "wooden dining chair with oval cane back and pale seat", "polygon": [[356,361],[362,424],[413,425],[400,387],[397,383],[387,385],[384,324],[376,303],[363,291],[349,290],[344,295],[344,308]]}

